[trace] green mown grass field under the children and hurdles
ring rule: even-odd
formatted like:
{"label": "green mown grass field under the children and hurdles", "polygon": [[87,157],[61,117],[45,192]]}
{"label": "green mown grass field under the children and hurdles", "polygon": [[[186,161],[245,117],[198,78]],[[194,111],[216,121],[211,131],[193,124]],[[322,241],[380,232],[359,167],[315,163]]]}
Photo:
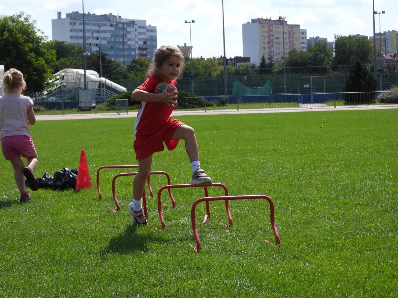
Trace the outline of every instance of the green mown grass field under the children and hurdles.
{"label": "green mown grass field under the children and hurdles", "polygon": [[[0,297],[398,296],[397,109],[176,118],[195,129],[213,182],[273,200],[281,246],[263,241],[275,243],[265,200],[230,201],[230,227],[224,203],[210,202],[194,252],[190,212],[203,189],[173,190],[177,206],[163,208],[160,231],[160,175],[151,176],[149,226],[133,226],[132,177],[116,181],[118,213],[108,208],[116,209],[111,181],[124,170],[101,171],[102,200],[95,185],[100,166],[136,164],[135,118],[39,121],[36,176],[77,168],[85,150],[93,188],[39,189],[19,203],[1,159]],[[188,183],[184,142],[155,154],[152,170]],[[204,213],[202,203],[197,222]]]}

